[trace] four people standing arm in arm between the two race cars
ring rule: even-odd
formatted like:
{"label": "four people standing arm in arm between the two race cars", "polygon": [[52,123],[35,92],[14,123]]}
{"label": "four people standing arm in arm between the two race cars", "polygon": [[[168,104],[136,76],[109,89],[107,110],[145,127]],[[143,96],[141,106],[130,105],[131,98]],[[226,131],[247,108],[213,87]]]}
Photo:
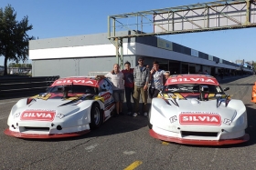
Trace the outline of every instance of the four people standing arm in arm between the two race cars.
{"label": "four people standing arm in arm between the two race cars", "polygon": [[[131,63],[124,63],[125,69],[120,71],[118,64],[113,65],[112,72],[104,75],[111,78],[113,98],[116,105],[116,115],[123,115],[123,100],[124,94],[127,105],[127,115],[133,117],[139,115],[139,101],[142,97],[144,116],[148,115],[147,98],[154,98],[165,85],[165,80],[169,74],[164,70],[159,69],[159,63],[155,61],[153,68],[149,70],[144,65],[144,57],[138,58],[138,65],[131,68]],[[100,75],[97,75],[100,76]],[[123,83],[124,82],[124,83]],[[148,85],[150,87],[148,89]],[[131,98],[133,97],[133,106]]]}

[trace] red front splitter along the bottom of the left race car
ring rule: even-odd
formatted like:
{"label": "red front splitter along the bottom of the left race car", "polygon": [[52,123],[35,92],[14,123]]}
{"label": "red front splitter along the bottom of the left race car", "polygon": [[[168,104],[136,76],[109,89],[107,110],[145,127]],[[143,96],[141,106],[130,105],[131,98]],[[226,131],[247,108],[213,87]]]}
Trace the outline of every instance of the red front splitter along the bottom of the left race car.
{"label": "red front splitter along the bottom of the left race car", "polygon": [[90,130],[83,130],[80,132],[65,133],[65,134],[27,134],[22,132],[11,131],[9,128],[7,128],[5,129],[4,133],[5,135],[11,135],[17,138],[52,139],[52,138],[65,138],[65,137],[85,135],[89,132]]}

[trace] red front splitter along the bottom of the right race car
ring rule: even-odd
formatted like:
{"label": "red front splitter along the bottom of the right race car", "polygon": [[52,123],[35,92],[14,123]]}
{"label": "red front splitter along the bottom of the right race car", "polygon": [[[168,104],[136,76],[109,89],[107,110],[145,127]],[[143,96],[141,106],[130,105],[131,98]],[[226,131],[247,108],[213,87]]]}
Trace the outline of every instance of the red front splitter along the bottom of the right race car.
{"label": "red front splitter along the bottom of the right race car", "polygon": [[198,139],[185,139],[174,136],[166,136],[155,133],[153,129],[149,130],[149,134],[156,139],[160,139],[166,142],[174,142],[185,145],[233,145],[247,142],[250,139],[248,134],[245,134],[239,138],[233,139],[220,139],[220,140],[198,140]]}

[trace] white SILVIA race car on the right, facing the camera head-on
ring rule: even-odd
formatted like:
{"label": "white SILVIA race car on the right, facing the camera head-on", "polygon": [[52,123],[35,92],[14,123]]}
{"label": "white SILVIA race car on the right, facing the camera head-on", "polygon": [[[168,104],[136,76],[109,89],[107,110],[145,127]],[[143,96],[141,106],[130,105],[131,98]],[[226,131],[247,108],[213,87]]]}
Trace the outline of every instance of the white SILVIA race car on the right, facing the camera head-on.
{"label": "white SILVIA race car on the right, facing the camera head-on", "polygon": [[246,142],[246,107],[231,99],[210,75],[172,75],[149,112],[150,135],[179,144]]}

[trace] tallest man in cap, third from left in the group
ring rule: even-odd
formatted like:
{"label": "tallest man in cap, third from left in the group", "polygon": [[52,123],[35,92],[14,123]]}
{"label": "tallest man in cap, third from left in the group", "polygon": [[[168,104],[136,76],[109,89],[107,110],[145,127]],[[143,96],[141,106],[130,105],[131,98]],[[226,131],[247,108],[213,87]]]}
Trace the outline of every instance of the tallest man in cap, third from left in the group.
{"label": "tallest man in cap, third from left in the group", "polygon": [[147,116],[147,85],[149,79],[149,70],[144,66],[144,57],[138,58],[138,64],[134,67],[133,77],[134,77],[134,113],[133,117],[137,116],[139,113],[139,101],[142,95],[143,99],[143,112]]}

